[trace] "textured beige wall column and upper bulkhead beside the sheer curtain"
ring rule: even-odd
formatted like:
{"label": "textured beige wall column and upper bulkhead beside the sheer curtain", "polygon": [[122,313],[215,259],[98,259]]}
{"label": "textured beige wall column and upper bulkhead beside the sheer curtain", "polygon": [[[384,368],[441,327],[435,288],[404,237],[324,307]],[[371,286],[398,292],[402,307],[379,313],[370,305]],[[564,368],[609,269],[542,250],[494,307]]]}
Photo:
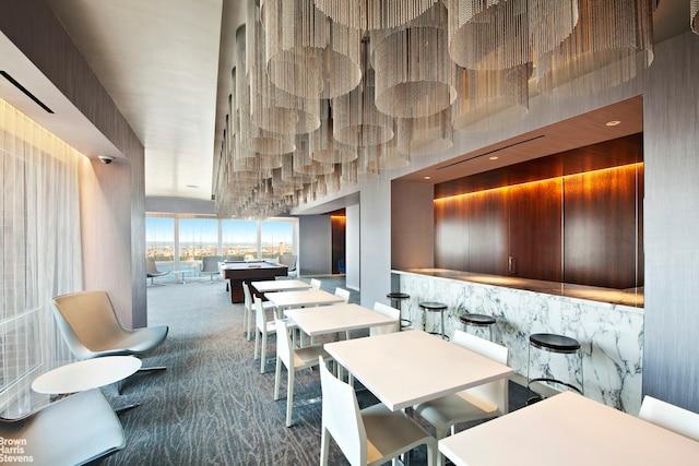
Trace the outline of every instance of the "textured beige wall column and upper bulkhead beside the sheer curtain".
{"label": "textured beige wall column and upper bulkhead beside the sheer curtain", "polygon": [[3,2],[0,29],[129,160],[82,167],[83,266],[125,325],[145,325],[143,145],[46,1]]}

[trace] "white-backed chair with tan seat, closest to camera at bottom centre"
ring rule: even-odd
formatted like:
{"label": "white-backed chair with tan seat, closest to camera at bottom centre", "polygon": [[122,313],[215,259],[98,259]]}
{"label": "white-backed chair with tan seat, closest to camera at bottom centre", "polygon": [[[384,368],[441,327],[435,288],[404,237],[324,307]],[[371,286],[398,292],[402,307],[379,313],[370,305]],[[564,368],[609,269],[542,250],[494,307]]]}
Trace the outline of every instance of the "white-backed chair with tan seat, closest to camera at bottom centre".
{"label": "white-backed chair with tan seat, closest to camera at bottom centre", "polygon": [[359,410],[354,389],[336,379],[319,358],[322,387],[320,464],[328,465],[330,437],[353,466],[381,465],[416,446],[427,445],[434,465],[437,441],[403,411],[378,403]]}

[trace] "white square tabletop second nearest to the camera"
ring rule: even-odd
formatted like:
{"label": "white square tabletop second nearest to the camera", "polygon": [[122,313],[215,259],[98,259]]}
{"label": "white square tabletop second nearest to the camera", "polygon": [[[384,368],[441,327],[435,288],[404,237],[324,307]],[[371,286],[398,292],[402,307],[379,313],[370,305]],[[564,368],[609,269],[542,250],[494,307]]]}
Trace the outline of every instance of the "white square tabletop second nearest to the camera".
{"label": "white square tabletop second nearest to the camera", "polygon": [[513,373],[420,330],[328,343],[324,348],[394,411]]}

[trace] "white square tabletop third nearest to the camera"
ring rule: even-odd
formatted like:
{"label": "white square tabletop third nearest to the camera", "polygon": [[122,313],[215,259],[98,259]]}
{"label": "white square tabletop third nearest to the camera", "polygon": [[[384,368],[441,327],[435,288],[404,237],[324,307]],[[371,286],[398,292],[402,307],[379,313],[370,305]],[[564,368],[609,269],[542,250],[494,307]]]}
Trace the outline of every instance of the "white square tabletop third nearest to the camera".
{"label": "white square tabletop third nearest to the camera", "polygon": [[310,336],[368,328],[394,322],[389,316],[359,304],[342,303],[317,308],[288,309],[284,313]]}

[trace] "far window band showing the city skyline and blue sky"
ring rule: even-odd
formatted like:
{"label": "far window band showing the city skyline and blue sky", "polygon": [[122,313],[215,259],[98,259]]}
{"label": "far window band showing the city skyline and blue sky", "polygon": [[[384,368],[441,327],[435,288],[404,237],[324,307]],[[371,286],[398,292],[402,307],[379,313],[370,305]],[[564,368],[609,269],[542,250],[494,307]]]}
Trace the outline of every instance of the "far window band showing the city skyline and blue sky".
{"label": "far window band showing the city skyline and blue sky", "polygon": [[295,218],[233,220],[149,214],[145,251],[161,271],[196,272],[201,258],[206,255],[234,261],[276,261],[283,253],[294,253],[296,229]]}

